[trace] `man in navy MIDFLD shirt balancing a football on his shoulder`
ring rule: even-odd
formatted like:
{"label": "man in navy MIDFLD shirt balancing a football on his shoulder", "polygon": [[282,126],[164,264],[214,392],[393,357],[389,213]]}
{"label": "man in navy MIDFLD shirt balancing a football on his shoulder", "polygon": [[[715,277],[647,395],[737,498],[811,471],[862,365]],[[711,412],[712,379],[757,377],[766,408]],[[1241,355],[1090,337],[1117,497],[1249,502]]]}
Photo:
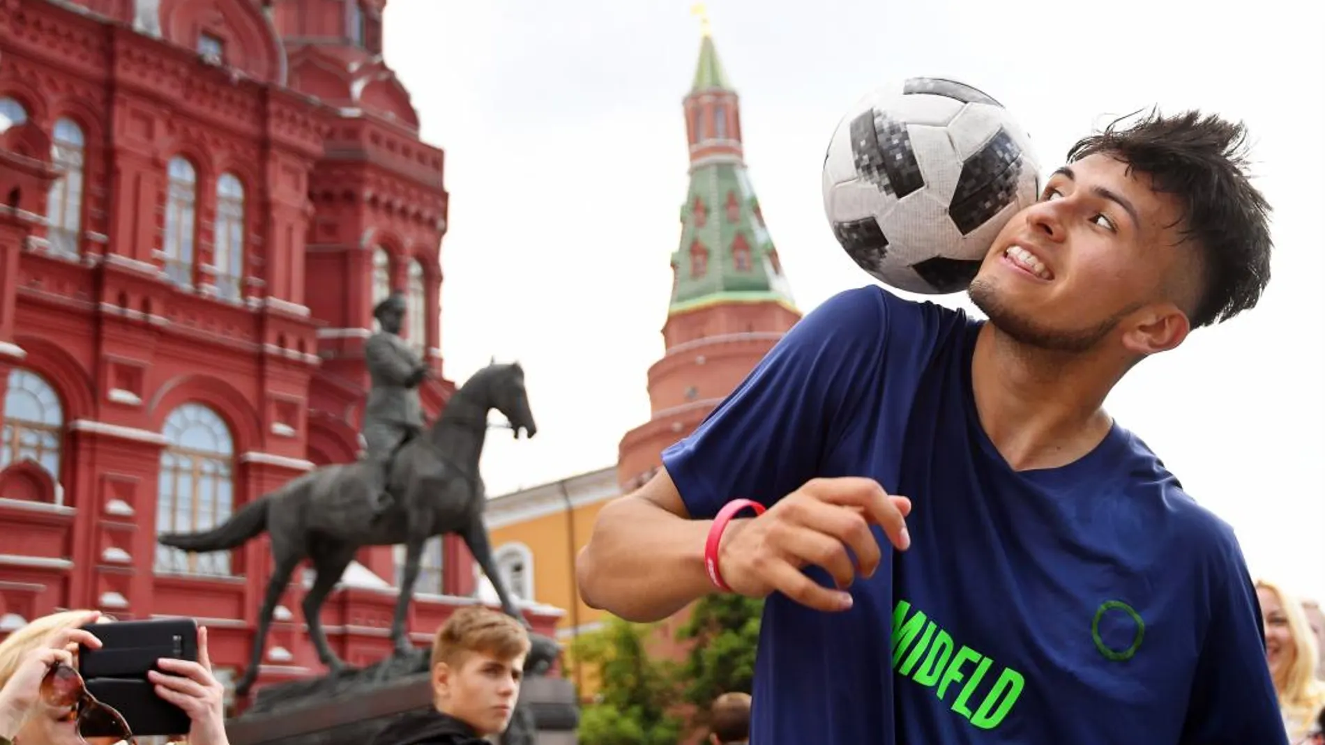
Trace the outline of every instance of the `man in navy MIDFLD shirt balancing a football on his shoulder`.
{"label": "man in navy MIDFLD shirt balancing a football on his shoulder", "polygon": [[[988,322],[825,302],[600,512],[586,602],[767,595],[761,745],[1285,742],[1232,529],[1102,410],[1264,290],[1243,136],[1189,112],[1077,143],[970,287]],[[713,520],[742,498],[767,511]]]}

